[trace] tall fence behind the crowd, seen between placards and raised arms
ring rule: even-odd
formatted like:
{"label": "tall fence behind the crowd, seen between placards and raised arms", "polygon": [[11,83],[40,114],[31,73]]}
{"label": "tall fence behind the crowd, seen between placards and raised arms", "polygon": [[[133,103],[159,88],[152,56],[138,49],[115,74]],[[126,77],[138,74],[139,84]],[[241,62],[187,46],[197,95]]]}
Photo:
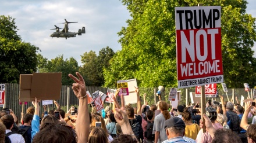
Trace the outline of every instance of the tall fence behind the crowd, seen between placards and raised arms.
{"label": "tall fence behind the crowd, seen between placards and raised arms", "polygon": [[[18,119],[20,119],[21,115],[20,113],[22,112],[22,105],[19,104],[19,84],[17,83],[3,83],[6,85],[5,87],[5,98],[6,98],[6,102],[5,102],[5,107],[12,109],[15,112],[15,115],[18,117]],[[76,96],[73,93],[73,90],[71,88],[72,86],[62,86],[61,89],[61,99],[60,100],[56,100],[59,105],[62,106],[62,109],[66,112],[66,105],[67,105],[67,92],[68,92],[68,88],[69,90],[69,94],[70,94],[70,98],[69,98],[69,106],[74,105],[74,106],[78,106],[79,105],[79,100],[76,98]],[[87,87],[87,90],[90,91],[90,93],[94,93],[94,91],[102,91],[103,93],[106,94],[108,88],[105,87]],[[195,92],[195,87],[190,87],[186,89],[178,89],[180,90],[180,95],[181,95],[181,100],[180,100],[180,104],[186,104],[186,94],[190,93],[190,92]],[[154,96],[155,93],[158,91],[157,88],[155,87],[140,87],[140,97],[141,97],[141,102],[143,104],[143,94],[147,93],[146,96],[146,101],[148,102],[149,105],[155,104],[155,102],[158,102],[158,97]],[[170,91],[170,87],[165,88],[165,91],[163,92],[162,95],[162,100],[168,101],[168,95],[169,95],[169,91]],[[244,89],[228,89],[227,94],[223,92],[222,89],[218,89],[218,94],[219,95],[223,95],[225,97],[225,101],[227,101],[226,95],[229,97],[229,100],[232,99],[232,96],[234,95],[234,97],[237,96],[238,100],[240,101],[241,95],[244,96],[244,98],[246,99],[248,94],[250,94],[250,96],[252,96],[252,90],[250,91],[244,91]],[[190,96],[188,96],[189,98],[187,99],[188,102],[191,102],[190,100]],[[206,99],[207,100],[207,99]],[[216,101],[220,102],[219,98],[215,98]],[[120,101],[120,98],[118,98],[118,101]],[[236,102],[236,101],[234,101]],[[109,105],[109,103],[104,103],[104,107],[106,105]],[[26,109],[28,107],[33,106],[31,104],[31,102],[28,102],[27,105],[24,105],[24,112],[26,112]],[[49,109],[53,109],[56,108],[54,107],[55,105],[49,105]],[[40,112],[43,111],[41,102],[40,102]],[[133,105],[133,107],[136,107],[136,104]],[[77,107],[78,108],[78,107]],[[0,107],[0,109],[2,110],[2,107]],[[91,108],[90,108],[91,111]]]}

